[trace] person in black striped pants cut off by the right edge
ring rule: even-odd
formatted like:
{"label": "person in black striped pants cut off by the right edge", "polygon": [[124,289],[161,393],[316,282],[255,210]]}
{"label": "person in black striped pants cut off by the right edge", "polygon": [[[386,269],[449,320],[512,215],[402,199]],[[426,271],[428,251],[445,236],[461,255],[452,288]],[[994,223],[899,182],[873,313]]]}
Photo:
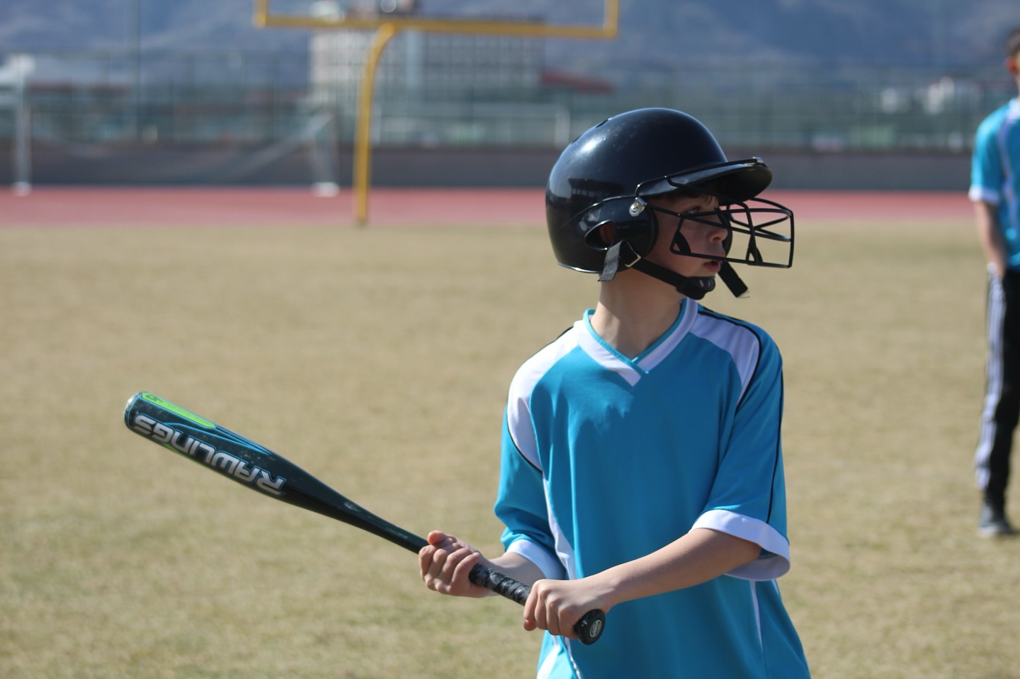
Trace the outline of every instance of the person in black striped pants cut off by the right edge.
{"label": "person in black striped pants cut off by the right edge", "polygon": [[[1006,39],[1006,69],[1020,89],[1020,27]],[[981,535],[1013,534],[1006,517],[1013,432],[1020,415],[1020,100],[978,126],[968,196],[988,260],[986,393],[974,468]]]}

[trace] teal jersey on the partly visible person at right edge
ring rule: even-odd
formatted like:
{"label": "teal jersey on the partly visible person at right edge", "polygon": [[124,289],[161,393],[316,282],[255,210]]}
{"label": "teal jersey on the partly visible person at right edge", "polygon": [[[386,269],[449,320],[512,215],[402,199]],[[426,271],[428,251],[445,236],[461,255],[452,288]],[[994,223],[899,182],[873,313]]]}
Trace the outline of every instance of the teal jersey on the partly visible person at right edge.
{"label": "teal jersey on the partly visible person at right edge", "polygon": [[1020,269],[1020,101],[1010,100],[978,125],[968,196],[998,206],[1007,266]]}

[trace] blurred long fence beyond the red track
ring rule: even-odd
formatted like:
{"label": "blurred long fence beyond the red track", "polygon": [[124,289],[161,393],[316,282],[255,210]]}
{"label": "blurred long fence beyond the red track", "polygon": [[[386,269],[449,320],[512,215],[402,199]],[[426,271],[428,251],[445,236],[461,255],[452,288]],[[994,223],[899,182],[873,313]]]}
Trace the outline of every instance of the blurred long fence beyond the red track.
{"label": "blurred long fence beyond the red track", "polygon": [[[0,62],[5,56],[0,53]],[[308,84],[300,53],[47,52],[15,92],[0,79],[0,140],[31,111],[35,141],[271,145],[332,120],[352,143],[353,94]],[[1015,96],[993,67],[824,69],[677,64],[675,71],[600,73],[613,87],[563,79],[513,91],[380,89],[373,144],[562,147],[608,115],[641,106],[684,110],[724,146],[806,150],[964,150],[976,125]],[[22,116],[23,117],[23,116]],[[23,125],[21,125],[23,127]]]}

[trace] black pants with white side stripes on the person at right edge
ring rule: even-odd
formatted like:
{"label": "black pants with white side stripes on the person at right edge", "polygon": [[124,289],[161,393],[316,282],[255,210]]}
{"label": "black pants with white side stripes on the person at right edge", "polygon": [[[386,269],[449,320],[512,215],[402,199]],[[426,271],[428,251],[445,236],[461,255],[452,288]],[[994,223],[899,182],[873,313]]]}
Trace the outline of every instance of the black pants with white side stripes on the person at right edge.
{"label": "black pants with white side stripes on the person at right edge", "polygon": [[985,502],[1002,508],[1020,416],[1020,271],[988,273],[988,353],[984,408],[974,467]]}

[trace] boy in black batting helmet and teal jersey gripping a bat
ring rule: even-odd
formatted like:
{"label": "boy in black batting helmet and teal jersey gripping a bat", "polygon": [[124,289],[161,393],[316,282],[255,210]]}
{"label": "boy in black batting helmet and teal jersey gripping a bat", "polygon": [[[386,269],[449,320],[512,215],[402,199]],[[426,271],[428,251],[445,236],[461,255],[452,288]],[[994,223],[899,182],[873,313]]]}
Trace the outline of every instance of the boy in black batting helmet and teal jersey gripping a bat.
{"label": "boy in black batting helmet and teal jersey gripping a bat", "polygon": [[[609,118],[550,174],[553,251],[601,274],[598,305],[511,382],[506,552],[432,531],[419,554],[444,593],[489,594],[467,579],[479,562],[533,583],[540,678],[809,676],[774,582],[789,568],[781,359],[764,331],[696,302],[716,275],[744,290],[729,262],[789,266],[793,214],[747,203],[770,180],[668,109]],[[770,244],[780,257],[762,256]],[[572,625],[593,609],[606,628],[582,645]]]}

